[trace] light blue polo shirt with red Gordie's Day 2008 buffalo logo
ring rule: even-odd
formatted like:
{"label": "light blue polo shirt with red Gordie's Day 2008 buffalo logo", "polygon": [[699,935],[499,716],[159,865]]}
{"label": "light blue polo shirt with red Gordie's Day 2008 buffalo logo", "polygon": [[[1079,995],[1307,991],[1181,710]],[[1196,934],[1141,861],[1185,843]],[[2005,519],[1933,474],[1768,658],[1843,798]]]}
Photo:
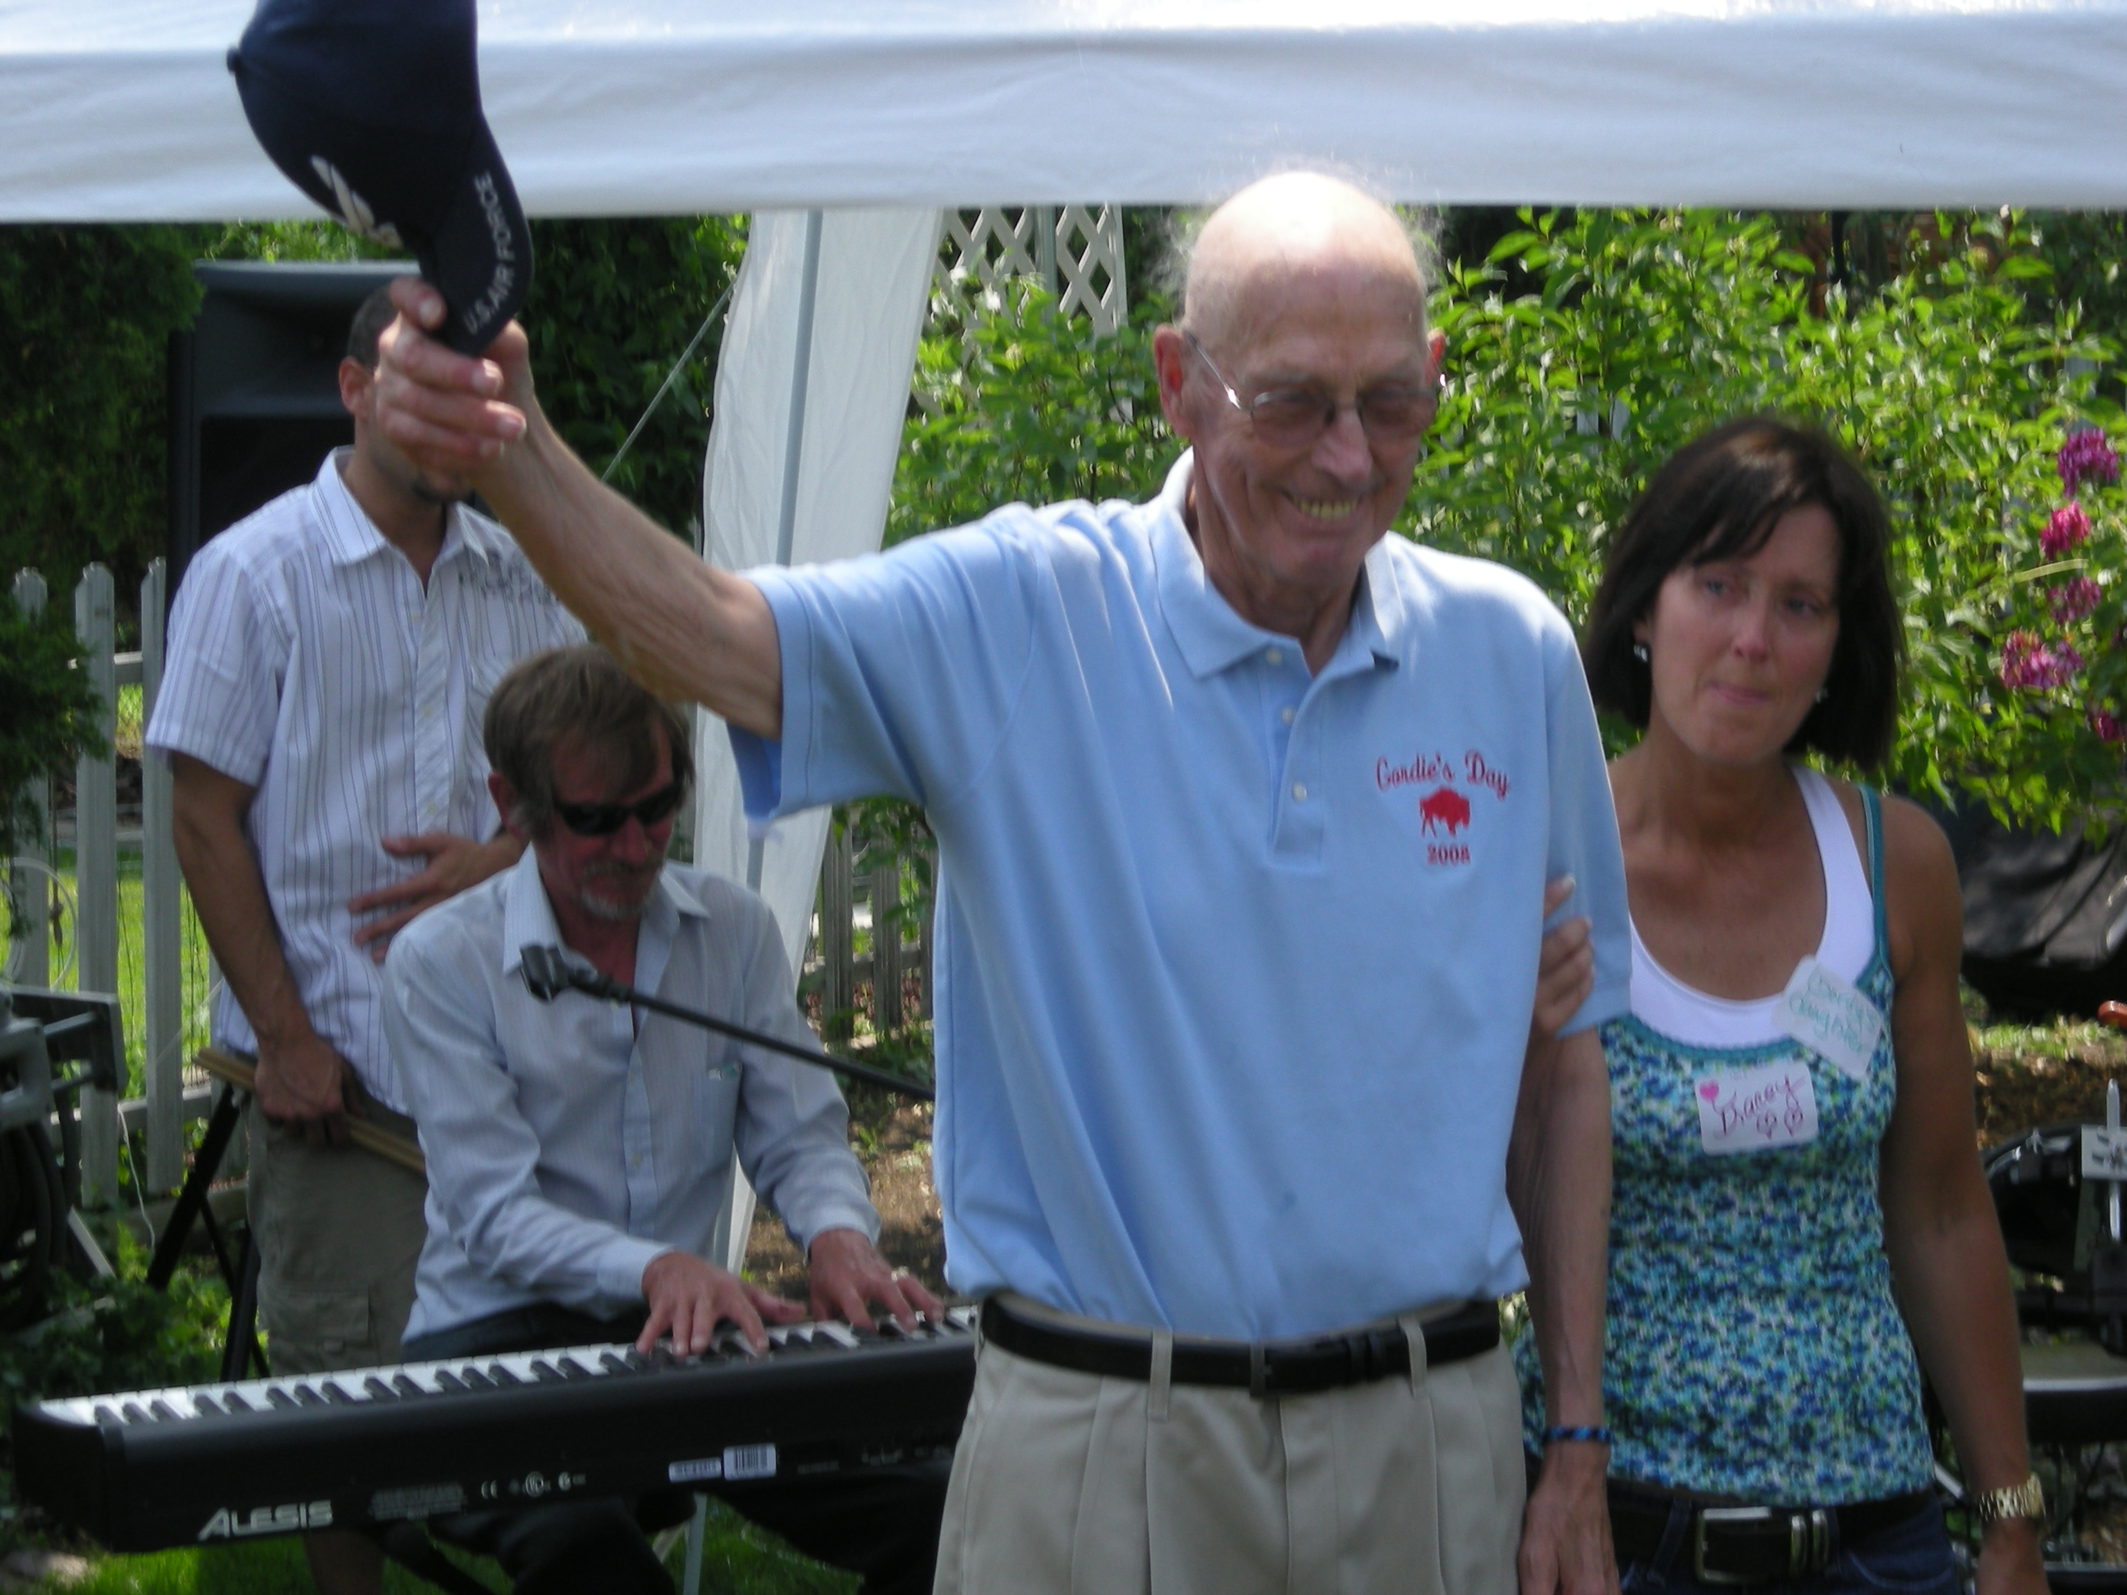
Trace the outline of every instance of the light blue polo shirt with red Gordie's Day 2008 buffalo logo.
{"label": "light blue polo shirt with red Gordie's Day 2008 buffalo logo", "polygon": [[1319,676],[1151,504],[1008,506],[755,570],[783,740],[747,810],[910,797],[938,834],[947,1280],[1276,1338],[1514,1291],[1506,1142],[1542,891],[1627,1008],[1580,659],[1521,576],[1389,536]]}

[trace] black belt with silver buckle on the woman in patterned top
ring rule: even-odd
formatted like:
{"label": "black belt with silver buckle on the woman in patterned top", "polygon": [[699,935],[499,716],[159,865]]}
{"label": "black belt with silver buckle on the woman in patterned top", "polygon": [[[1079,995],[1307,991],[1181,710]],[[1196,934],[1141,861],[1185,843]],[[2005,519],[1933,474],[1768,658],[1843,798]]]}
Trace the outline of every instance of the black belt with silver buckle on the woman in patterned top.
{"label": "black belt with silver buckle on the woman in patterned top", "polygon": [[1619,1567],[1655,1563],[1672,1510],[1687,1506],[1691,1527],[1676,1561],[1689,1557],[1702,1584],[1776,1584],[1821,1574],[1842,1546],[1904,1523],[1931,1499],[1914,1491],[1848,1506],[1695,1506],[1612,1482],[1610,1542]]}

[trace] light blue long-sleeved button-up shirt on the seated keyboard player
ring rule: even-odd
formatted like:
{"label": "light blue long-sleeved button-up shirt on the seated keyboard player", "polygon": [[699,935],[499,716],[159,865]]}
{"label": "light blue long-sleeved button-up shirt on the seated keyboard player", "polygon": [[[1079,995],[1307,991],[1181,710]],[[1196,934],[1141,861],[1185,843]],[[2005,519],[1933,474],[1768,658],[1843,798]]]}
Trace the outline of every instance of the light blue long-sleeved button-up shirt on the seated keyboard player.
{"label": "light blue long-sleeved button-up shirt on the seated keyboard player", "polygon": [[[538,1002],[519,948],[559,944],[527,851],[391,940],[385,1029],[428,1159],[428,1242],[406,1336],[525,1306],[617,1316],[668,1250],[706,1257],[732,1153],[800,1250],[878,1236],[834,1076],[581,993]],[[744,887],[666,866],[636,987],[815,1044],[774,917]]]}

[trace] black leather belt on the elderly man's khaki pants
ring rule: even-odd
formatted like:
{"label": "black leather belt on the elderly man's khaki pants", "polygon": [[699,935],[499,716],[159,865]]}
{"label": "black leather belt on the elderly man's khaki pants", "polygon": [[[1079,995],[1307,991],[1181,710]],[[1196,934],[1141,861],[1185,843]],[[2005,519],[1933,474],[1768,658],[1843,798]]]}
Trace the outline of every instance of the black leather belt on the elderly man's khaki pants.
{"label": "black leather belt on the elderly man's khaki pants", "polygon": [[[983,1302],[983,1340],[1015,1357],[1104,1378],[1153,1376],[1149,1331],[1102,1333],[1042,1323],[998,1297]],[[1474,1302],[1425,1325],[1425,1365],[1459,1363],[1500,1344],[1500,1308]],[[1176,1384],[1229,1384],[1251,1395],[1312,1395],[1410,1372],[1410,1342],[1400,1325],[1374,1323],[1314,1340],[1174,1338]]]}

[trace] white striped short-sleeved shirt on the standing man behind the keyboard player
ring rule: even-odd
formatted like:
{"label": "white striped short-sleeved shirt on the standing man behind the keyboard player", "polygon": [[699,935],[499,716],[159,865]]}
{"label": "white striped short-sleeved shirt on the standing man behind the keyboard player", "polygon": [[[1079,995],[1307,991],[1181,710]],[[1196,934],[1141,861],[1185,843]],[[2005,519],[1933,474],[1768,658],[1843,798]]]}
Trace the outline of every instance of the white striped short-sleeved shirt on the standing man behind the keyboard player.
{"label": "white striped short-sleeved shirt on the standing man behind the keyboard player", "polygon": [[[340,481],[347,453],[194,555],[145,740],[257,789],[245,829],[304,1012],[404,1112],[383,970],[355,946],[347,904],[425,868],[385,853],[385,836],[493,834],[487,695],[583,627],[510,536],[464,506],[423,589]],[[257,1048],[228,987],[213,1034]]]}

